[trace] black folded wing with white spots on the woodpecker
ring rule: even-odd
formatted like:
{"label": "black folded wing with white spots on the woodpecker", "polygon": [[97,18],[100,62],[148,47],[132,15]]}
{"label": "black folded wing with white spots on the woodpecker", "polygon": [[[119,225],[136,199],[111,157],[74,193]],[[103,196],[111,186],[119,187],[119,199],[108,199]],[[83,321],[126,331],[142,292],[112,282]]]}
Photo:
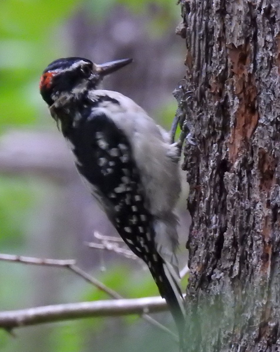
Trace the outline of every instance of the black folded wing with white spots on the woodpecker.
{"label": "black folded wing with white spots on the woodpecker", "polygon": [[73,145],[78,171],[108,205],[105,211],[113,225],[130,249],[148,262],[147,254],[156,252],[152,215],[145,207],[127,137],[101,114],[80,121],[66,138]]}

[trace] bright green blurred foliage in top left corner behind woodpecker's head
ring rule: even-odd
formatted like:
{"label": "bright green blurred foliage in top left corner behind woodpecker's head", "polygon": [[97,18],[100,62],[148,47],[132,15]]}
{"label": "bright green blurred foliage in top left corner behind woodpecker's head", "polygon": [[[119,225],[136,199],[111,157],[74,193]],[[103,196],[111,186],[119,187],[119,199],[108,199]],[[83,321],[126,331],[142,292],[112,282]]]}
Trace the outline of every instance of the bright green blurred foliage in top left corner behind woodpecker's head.
{"label": "bright green blurred foliage in top left corner behind woodpecker's head", "polygon": [[34,101],[40,99],[35,93],[39,75],[59,54],[61,46],[55,41],[50,43],[50,37],[77,4],[75,0],[1,2],[0,132],[11,125],[38,123]]}

